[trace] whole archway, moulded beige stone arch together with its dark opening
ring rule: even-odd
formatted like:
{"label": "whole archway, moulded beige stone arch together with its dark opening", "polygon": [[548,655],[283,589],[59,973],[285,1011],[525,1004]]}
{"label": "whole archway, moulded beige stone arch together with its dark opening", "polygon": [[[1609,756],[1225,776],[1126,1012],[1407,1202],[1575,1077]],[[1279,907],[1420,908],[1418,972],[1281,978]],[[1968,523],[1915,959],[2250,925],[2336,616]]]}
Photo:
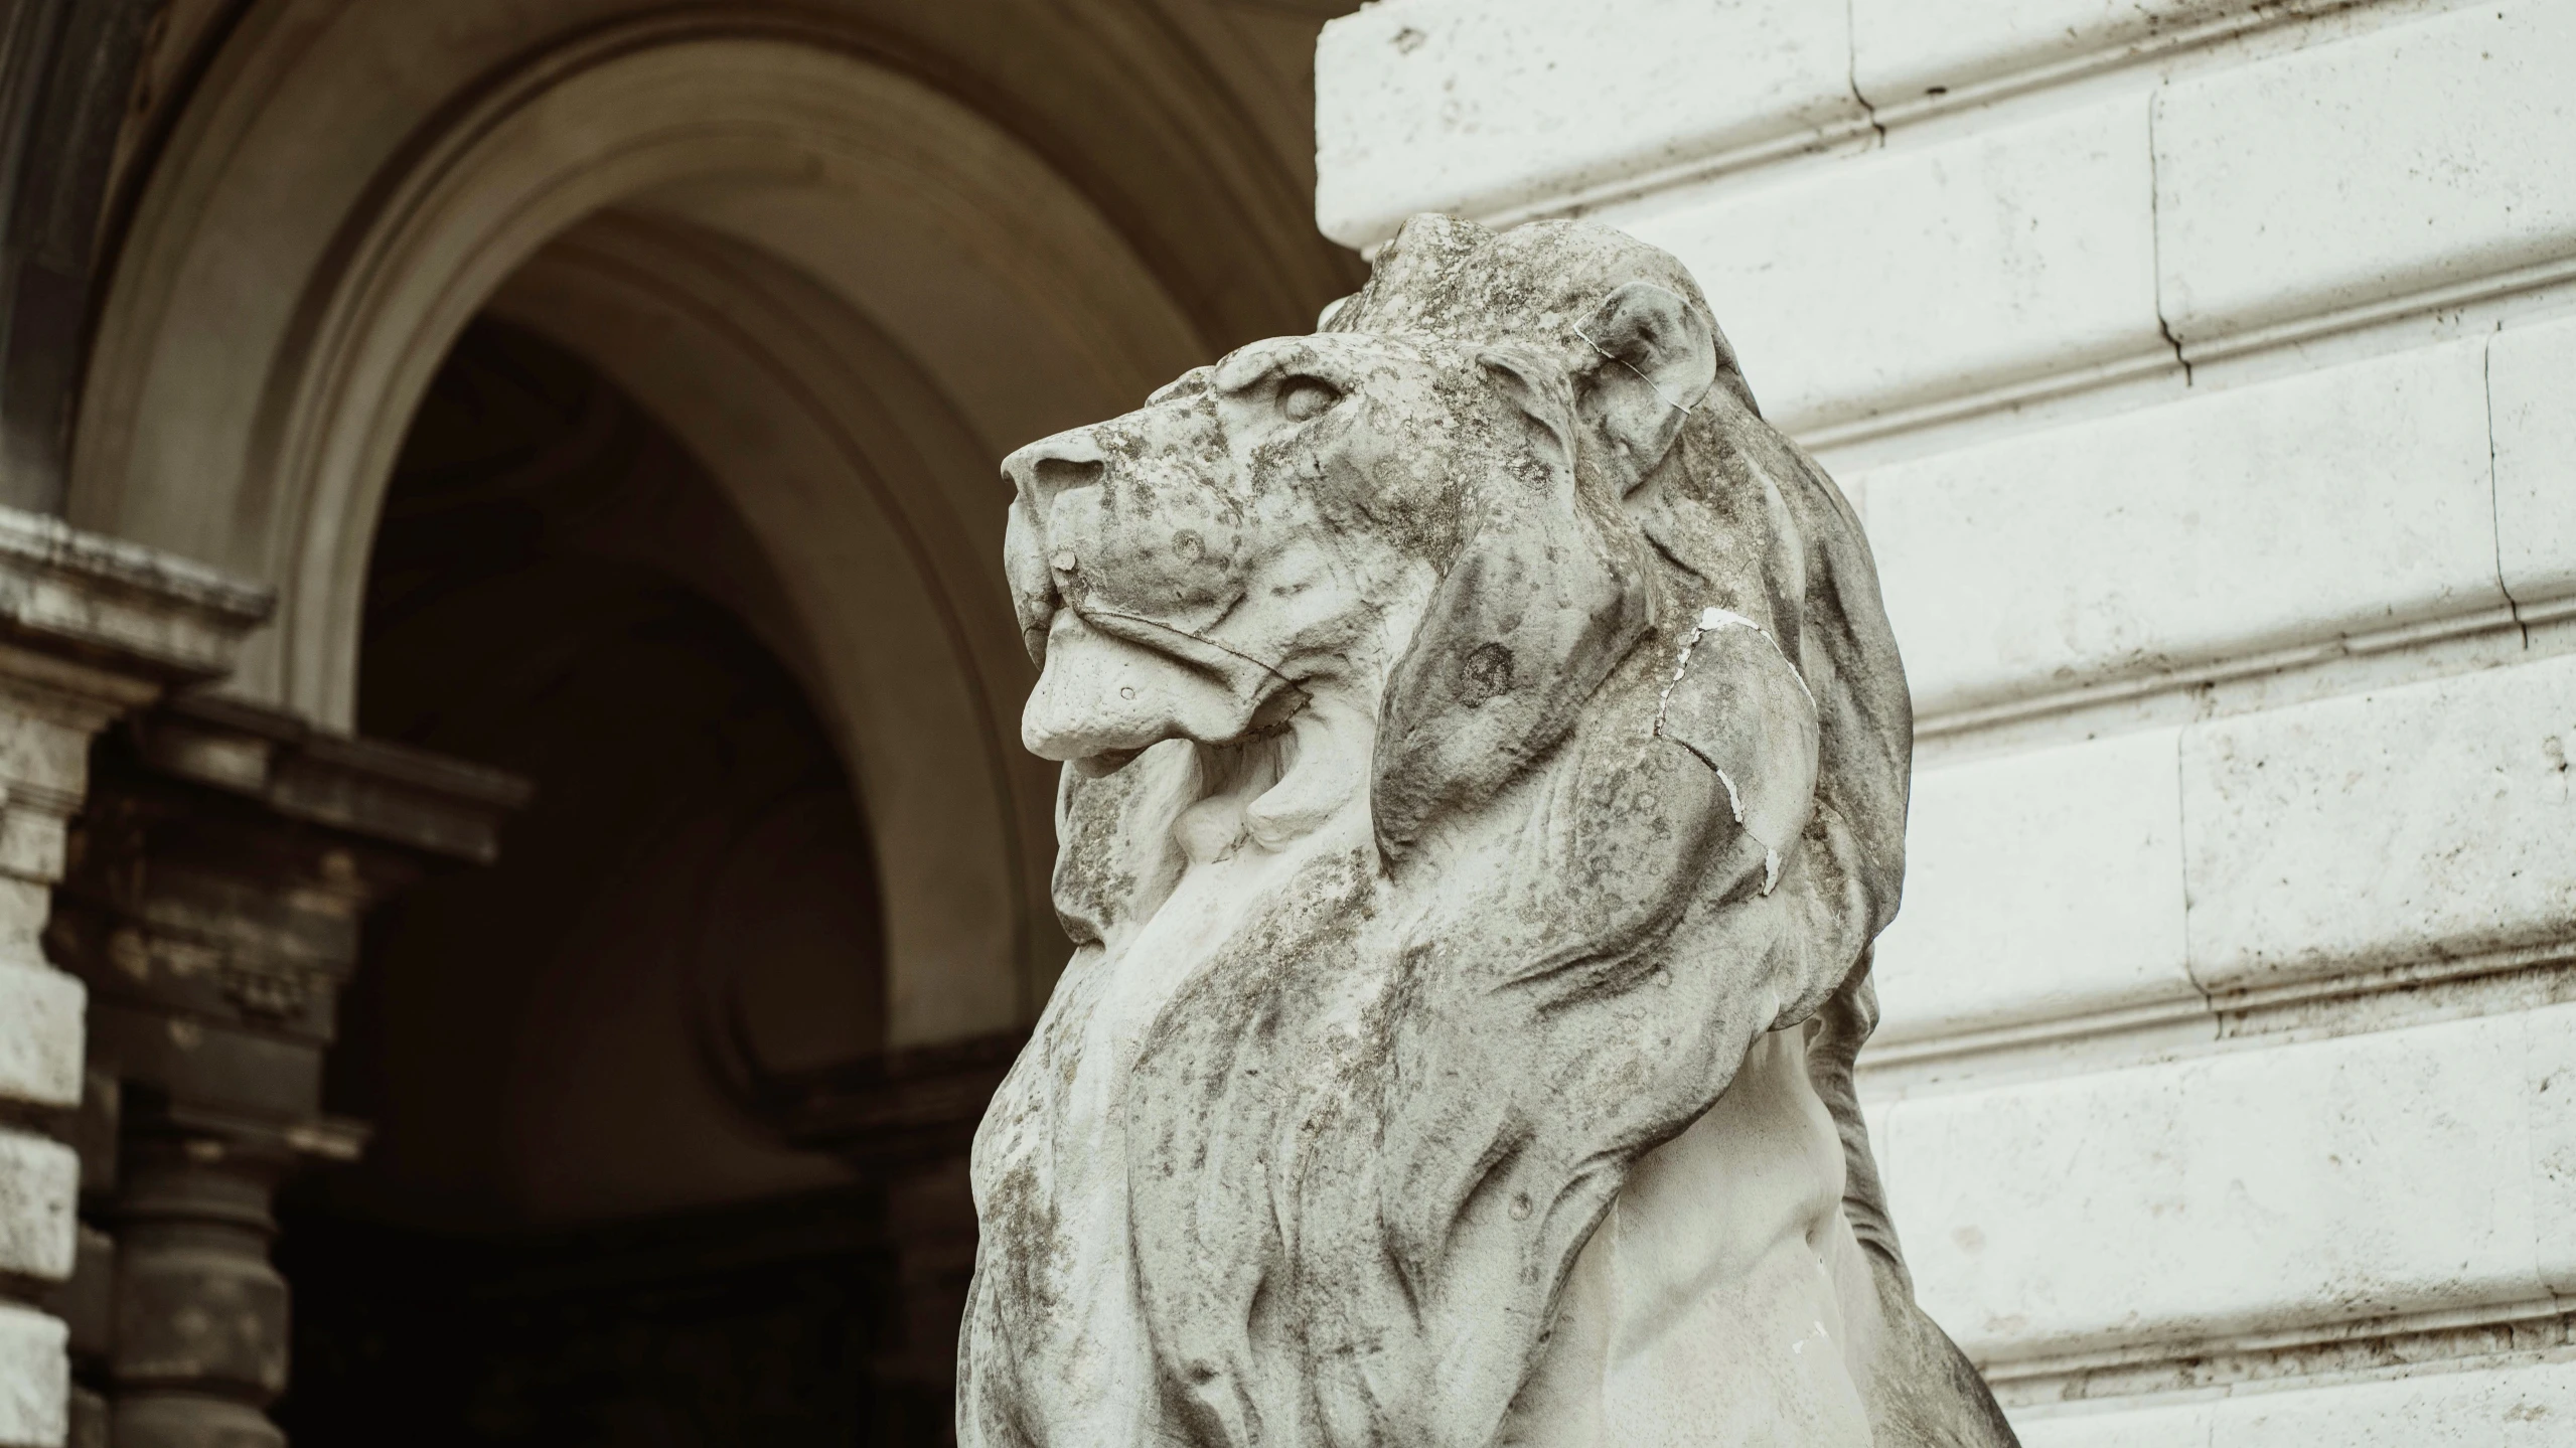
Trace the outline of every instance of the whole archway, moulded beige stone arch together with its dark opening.
{"label": "whole archway, moulded beige stone arch together with its dark opening", "polygon": [[1175,15],[252,3],[214,49],[67,513],[278,590],[232,693],[536,781],[371,925],[330,1108],[376,1136],[278,1244],[301,1443],[943,1438],[963,1129],[1066,951],[994,464],[1355,273]]}

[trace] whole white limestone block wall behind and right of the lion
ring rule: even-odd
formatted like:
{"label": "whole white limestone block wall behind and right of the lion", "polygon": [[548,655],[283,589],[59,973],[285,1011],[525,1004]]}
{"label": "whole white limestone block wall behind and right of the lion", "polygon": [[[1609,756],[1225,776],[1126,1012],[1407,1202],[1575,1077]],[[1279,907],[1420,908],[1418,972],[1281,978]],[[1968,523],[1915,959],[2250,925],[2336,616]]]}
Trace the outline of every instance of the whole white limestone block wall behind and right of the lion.
{"label": "whole white limestone block wall behind and right of the lion", "polygon": [[1862,1059],[2032,1448],[2576,1440],[2576,0],[1381,0],[1319,219],[1682,255],[1917,701]]}

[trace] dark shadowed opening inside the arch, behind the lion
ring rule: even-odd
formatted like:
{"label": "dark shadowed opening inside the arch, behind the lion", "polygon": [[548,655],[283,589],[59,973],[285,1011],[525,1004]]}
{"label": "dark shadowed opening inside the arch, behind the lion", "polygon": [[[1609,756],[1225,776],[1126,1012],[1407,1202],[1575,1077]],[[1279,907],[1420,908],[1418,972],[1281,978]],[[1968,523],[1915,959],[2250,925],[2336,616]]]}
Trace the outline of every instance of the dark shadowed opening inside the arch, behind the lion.
{"label": "dark shadowed opening inside the arch, behind the lion", "polygon": [[886,1046],[863,804],[778,621],[641,405],[466,327],[386,490],[358,724],[536,796],[371,922],[327,1105],[374,1141],[283,1208],[299,1443],[935,1440],[884,1183],[765,1090]]}

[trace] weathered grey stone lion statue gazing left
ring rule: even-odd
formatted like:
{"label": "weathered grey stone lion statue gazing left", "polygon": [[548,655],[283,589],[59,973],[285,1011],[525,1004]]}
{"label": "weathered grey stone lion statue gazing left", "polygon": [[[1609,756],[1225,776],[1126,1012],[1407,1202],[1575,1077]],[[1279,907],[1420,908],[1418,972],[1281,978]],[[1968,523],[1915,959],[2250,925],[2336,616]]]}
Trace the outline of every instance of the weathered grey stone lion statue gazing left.
{"label": "weathered grey stone lion statue gazing left", "polygon": [[1852,1092],[1896,639],[1674,258],[1417,216],[1005,474],[1077,951],[961,1443],[2012,1443]]}

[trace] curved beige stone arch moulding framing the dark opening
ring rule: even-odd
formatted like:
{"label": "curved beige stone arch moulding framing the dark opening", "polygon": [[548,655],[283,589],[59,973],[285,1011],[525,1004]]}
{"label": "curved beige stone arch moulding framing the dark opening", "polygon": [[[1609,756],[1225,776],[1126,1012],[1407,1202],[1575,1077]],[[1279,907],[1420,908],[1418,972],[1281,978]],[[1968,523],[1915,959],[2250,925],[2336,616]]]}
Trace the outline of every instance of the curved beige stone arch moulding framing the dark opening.
{"label": "curved beige stone arch moulding framing the dark opening", "polygon": [[273,580],[234,688],[345,727],[376,508],[446,343],[492,307],[595,358],[770,549],[781,652],[904,840],[889,1038],[1025,1020],[1061,946],[989,459],[1208,338],[1059,170],[855,28],[706,13],[510,52],[500,0],[425,10],[255,10],[219,57],[126,240],[70,515]]}

